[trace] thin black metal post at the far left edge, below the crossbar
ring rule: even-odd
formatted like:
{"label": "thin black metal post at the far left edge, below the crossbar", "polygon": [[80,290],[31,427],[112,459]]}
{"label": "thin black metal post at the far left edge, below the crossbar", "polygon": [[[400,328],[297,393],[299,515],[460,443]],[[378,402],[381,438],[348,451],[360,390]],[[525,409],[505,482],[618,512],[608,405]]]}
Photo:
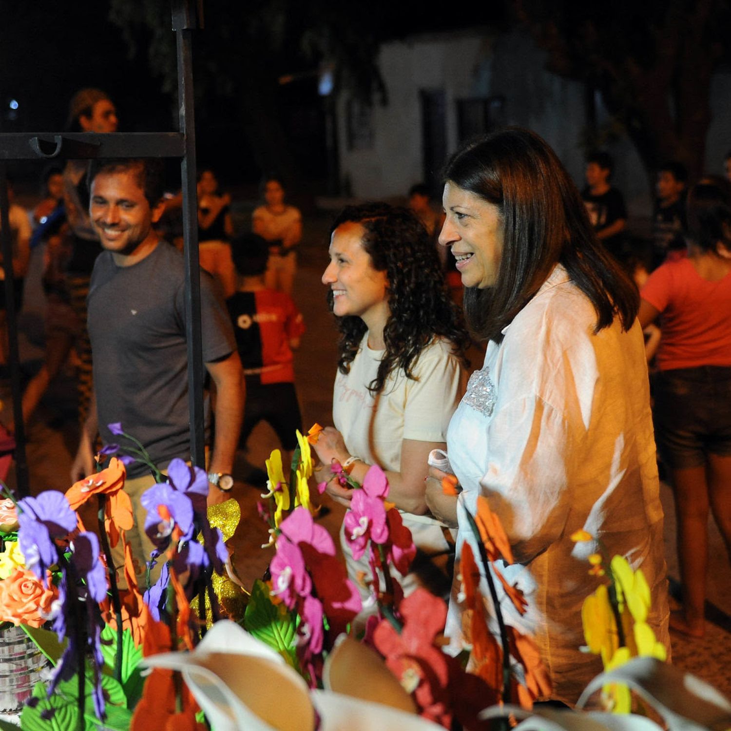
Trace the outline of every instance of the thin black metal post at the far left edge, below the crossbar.
{"label": "thin black metal post at the far left edge, below the crossbar", "polygon": [[23,429],[23,397],[20,393],[20,352],[18,350],[18,320],[15,312],[15,281],[13,281],[12,271],[10,202],[7,194],[7,167],[4,162],[0,162],[0,239],[5,273],[7,358],[8,366],[10,366],[12,414],[15,421],[15,485],[18,496],[25,497],[29,491],[29,477],[26,461],[26,435]]}

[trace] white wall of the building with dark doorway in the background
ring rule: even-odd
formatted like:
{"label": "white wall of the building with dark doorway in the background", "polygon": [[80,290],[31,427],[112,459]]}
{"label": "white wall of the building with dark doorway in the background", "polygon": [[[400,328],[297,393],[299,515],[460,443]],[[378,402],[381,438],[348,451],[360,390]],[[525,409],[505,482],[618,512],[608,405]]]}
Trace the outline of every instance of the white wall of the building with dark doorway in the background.
{"label": "white wall of the building with dark doorway in the background", "polygon": [[[338,102],[341,178],[348,179],[356,197],[404,195],[423,178],[422,88],[445,92],[448,154],[458,145],[455,101],[503,95],[505,123],[527,126],[545,137],[577,186],[583,187],[583,85],[548,72],[545,53],[526,34],[513,31],[491,39],[472,31],[392,42],[382,47],[379,65],[389,103],[374,107],[371,150],[347,149],[346,99]],[[731,70],[716,74],[711,98],[706,168],[719,173],[723,156],[731,149]],[[600,126],[610,122],[598,97],[596,113]],[[621,135],[604,148],[615,159],[613,183],[623,192],[630,216],[648,218],[652,204],[648,179],[629,138]]]}

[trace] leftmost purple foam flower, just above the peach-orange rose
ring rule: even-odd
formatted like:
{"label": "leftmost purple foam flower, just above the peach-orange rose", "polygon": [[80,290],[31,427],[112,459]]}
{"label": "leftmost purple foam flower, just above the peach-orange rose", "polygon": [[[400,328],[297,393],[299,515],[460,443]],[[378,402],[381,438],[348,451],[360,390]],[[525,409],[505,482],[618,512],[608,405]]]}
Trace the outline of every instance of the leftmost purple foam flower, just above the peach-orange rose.
{"label": "leftmost purple foam flower, just above the peach-orange rose", "polygon": [[46,585],[46,570],[58,561],[54,538],[63,538],[76,528],[76,513],[64,493],[47,490],[18,502],[18,542],[26,567]]}

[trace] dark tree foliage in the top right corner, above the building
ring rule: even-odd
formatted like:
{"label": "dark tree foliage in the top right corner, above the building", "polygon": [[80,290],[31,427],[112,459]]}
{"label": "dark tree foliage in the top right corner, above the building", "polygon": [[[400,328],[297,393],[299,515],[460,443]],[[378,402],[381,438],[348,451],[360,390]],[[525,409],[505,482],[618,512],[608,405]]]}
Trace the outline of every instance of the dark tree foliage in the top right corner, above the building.
{"label": "dark tree foliage in the top right corner, above the building", "polygon": [[702,173],[711,77],[731,56],[728,0],[511,0],[548,69],[585,82],[653,178],[675,159]]}

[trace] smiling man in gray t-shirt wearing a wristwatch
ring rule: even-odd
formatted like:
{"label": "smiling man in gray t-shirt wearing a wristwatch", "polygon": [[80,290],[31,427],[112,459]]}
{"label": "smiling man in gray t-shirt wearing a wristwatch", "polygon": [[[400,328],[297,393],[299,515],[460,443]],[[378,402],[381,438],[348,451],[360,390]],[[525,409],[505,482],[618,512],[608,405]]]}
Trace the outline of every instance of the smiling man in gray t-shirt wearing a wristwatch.
{"label": "smiling man in gray t-shirt wearing a wristwatch", "polygon": [[[124,449],[124,438],[109,431],[110,423],[121,422],[161,469],[175,457],[190,459],[183,257],[153,227],[164,210],[159,166],[147,160],[94,162],[88,178],[89,213],[105,251],[94,265],[88,295],[95,407],[72,467],[74,480],[94,471],[97,430],[105,444],[121,442]],[[218,394],[208,465],[208,504],[215,504],[229,496],[221,488],[230,482],[244,391],[230,321],[205,273],[201,320],[203,360]],[[144,466],[129,467],[125,490],[137,524],[145,511],[136,498],[153,482]],[[143,565],[151,543],[141,525],[134,532],[133,553]]]}

